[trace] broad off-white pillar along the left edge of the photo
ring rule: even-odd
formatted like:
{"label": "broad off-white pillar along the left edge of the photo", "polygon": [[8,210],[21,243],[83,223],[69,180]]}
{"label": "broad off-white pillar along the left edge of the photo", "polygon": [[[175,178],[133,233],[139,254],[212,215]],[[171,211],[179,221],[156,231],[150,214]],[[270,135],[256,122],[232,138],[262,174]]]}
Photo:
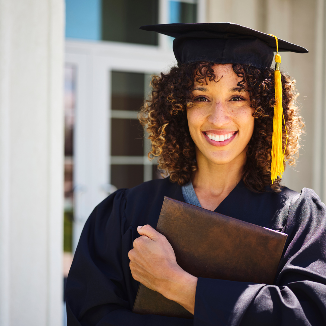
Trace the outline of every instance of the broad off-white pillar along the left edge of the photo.
{"label": "broad off-white pillar along the left edge of the photo", "polygon": [[0,0],[0,325],[62,324],[64,0]]}

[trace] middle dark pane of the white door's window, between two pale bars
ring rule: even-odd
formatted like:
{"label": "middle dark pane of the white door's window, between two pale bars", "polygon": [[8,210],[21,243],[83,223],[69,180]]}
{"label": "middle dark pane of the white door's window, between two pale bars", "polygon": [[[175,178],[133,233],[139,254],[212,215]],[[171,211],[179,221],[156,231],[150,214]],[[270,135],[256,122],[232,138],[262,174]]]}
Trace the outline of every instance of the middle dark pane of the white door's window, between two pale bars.
{"label": "middle dark pane of the white door's window, between two pale bars", "polygon": [[138,120],[111,119],[111,155],[143,156],[144,132]]}

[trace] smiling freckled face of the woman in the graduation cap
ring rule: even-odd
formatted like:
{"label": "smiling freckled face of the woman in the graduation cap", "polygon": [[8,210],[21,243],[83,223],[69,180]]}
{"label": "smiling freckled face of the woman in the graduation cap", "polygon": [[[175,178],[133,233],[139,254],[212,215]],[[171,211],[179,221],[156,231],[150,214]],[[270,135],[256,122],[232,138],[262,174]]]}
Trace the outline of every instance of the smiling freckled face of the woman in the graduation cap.
{"label": "smiling freckled face of the woman in the graduation cap", "polygon": [[[196,145],[197,160],[224,165],[245,159],[247,144],[254,130],[255,109],[247,92],[239,93],[238,77],[231,64],[216,64],[218,82],[195,83],[194,105],[187,109],[190,135]],[[200,157],[199,157],[200,156]]]}

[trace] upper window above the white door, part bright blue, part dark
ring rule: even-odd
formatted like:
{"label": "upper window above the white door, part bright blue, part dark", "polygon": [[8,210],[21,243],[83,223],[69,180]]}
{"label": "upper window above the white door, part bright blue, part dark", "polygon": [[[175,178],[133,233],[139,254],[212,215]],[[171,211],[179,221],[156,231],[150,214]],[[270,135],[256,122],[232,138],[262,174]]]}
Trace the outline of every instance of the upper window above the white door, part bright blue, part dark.
{"label": "upper window above the white door, part bright blue, part dark", "polygon": [[157,45],[158,0],[66,0],[66,37]]}

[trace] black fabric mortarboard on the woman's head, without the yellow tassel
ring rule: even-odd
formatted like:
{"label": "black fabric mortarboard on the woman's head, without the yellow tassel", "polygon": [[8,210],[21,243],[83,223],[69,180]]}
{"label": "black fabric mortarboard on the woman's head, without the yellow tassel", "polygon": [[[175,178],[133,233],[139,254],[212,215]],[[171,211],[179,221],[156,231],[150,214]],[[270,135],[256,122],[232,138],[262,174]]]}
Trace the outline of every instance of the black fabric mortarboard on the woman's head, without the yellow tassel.
{"label": "black fabric mortarboard on the woman's head, without the yellow tassel", "polygon": [[[161,24],[140,28],[175,37],[173,52],[181,63],[213,61],[251,64],[265,69],[271,67],[273,51],[276,51],[273,36],[231,22]],[[278,51],[308,52],[281,39],[278,39]]]}

